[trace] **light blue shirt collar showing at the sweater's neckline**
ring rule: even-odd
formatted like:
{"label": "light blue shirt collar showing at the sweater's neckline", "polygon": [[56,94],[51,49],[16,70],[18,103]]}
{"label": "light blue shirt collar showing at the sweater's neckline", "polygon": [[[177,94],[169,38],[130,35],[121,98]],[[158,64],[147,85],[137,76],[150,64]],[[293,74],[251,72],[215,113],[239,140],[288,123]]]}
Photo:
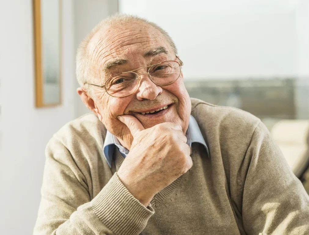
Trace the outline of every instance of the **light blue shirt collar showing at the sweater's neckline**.
{"label": "light blue shirt collar showing at the sweater's neckline", "polygon": [[[186,137],[187,137],[187,144],[190,147],[192,143],[199,143],[202,146],[204,146],[207,156],[209,157],[208,147],[205,143],[201,130],[198,127],[197,121],[192,115],[190,116],[188,130],[186,132]],[[114,152],[115,147],[119,149],[119,152],[121,153],[123,157],[126,157],[128,155],[129,150],[120,144],[116,136],[112,135],[111,132],[107,131],[106,137],[104,140],[103,155],[110,168],[112,167],[112,158],[113,158],[113,152]]]}

